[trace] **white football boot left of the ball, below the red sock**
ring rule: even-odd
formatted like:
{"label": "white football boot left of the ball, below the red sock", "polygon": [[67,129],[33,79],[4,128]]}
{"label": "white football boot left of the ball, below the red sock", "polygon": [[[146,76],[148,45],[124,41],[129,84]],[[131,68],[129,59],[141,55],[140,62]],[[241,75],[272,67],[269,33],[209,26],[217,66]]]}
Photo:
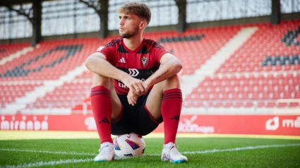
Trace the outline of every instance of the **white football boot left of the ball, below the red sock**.
{"label": "white football boot left of the ball, below the red sock", "polygon": [[102,143],[99,154],[95,157],[95,162],[108,162],[114,160],[114,144]]}

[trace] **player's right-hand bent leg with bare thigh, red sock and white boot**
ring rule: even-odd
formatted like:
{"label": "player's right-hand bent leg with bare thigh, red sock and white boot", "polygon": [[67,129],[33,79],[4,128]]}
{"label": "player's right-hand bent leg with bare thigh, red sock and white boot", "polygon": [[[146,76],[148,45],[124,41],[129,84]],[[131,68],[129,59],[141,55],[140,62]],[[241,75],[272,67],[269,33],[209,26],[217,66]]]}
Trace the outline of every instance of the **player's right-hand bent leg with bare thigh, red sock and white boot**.
{"label": "player's right-hand bent leg with bare thigh, red sock and white boot", "polygon": [[182,107],[182,93],[177,75],[153,86],[146,107],[153,119],[164,119],[164,149],[162,160],[187,162],[187,158],[177,150],[175,144],[179,117]]}

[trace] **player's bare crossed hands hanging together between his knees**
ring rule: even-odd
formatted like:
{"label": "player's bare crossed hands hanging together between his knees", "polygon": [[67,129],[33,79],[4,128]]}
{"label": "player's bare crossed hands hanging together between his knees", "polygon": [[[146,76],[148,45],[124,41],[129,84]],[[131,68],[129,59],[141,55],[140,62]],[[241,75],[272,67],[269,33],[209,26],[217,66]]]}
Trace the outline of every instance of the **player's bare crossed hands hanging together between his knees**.
{"label": "player's bare crossed hands hanging together between his knees", "polygon": [[149,87],[142,80],[138,80],[136,78],[125,78],[122,82],[129,88],[129,92],[127,95],[128,103],[131,105],[136,104],[136,100],[140,95],[143,95],[148,91]]}

